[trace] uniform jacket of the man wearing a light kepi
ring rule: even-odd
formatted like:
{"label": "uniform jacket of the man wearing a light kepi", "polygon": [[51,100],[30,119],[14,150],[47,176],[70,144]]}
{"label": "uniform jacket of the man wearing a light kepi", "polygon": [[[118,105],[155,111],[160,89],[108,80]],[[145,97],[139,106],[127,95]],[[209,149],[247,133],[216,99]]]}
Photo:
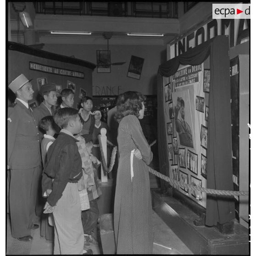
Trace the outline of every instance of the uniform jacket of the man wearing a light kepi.
{"label": "uniform jacket of the man wearing a light kepi", "polygon": [[7,165],[11,169],[29,169],[40,165],[37,123],[19,100],[8,107]]}

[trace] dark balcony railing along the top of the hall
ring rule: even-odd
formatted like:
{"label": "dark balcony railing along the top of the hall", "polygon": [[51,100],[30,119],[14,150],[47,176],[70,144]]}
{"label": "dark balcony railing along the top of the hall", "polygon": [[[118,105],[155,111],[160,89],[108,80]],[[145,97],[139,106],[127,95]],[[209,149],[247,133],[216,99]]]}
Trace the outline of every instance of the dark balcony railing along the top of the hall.
{"label": "dark balcony railing along the top of the hall", "polygon": [[110,17],[178,18],[178,2],[39,2],[36,13]]}

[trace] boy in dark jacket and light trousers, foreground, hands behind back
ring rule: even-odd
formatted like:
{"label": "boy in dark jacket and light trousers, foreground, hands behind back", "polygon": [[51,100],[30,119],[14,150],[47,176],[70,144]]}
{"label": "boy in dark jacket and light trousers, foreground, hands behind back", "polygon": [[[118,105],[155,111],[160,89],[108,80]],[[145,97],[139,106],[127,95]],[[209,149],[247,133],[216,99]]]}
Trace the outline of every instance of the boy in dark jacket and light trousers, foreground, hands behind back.
{"label": "boy in dark jacket and light trousers, foreground, hands behind back", "polygon": [[[44,213],[53,213],[55,224],[54,254],[83,254],[78,180],[82,177],[82,161],[77,139],[82,123],[78,111],[61,108],[54,114],[61,128],[56,141],[50,145],[42,178],[43,196],[48,196]],[[47,189],[52,191],[47,192]],[[49,190],[48,190],[49,191]],[[87,251],[86,254],[91,254]]]}

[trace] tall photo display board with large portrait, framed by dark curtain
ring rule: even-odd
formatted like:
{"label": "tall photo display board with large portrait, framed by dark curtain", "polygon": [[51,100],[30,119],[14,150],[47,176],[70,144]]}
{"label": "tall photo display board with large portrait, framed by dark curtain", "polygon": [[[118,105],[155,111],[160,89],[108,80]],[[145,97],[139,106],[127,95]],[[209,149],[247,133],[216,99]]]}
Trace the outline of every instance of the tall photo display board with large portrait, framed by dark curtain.
{"label": "tall photo display board with large portrait, framed by dark curtain", "polygon": [[[206,188],[210,70],[204,63],[180,65],[174,75],[163,77],[162,86],[169,177]],[[206,193],[174,187],[206,207]]]}

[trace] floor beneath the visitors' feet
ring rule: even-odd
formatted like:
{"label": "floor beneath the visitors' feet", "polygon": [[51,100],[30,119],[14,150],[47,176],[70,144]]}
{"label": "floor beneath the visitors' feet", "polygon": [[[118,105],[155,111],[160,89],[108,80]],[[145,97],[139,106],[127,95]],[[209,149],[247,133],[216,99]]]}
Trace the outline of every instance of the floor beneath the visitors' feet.
{"label": "floor beneath the visitors' feet", "polygon": [[[154,225],[153,254],[193,254],[186,245],[172,232],[161,218],[152,211]],[[35,223],[40,224],[39,220]],[[6,254],[8,255],[50,255],[53,252],[53,243],[40,238],[39,228],[32,231],[33,241],[21,242],[12,238],[10,220],[7,218]],[[98,236],[99,237],[99,236]],[[168,249],[170,248],[170,249]],[[102,254],[99,245],[91,246],[94,254]]]}

